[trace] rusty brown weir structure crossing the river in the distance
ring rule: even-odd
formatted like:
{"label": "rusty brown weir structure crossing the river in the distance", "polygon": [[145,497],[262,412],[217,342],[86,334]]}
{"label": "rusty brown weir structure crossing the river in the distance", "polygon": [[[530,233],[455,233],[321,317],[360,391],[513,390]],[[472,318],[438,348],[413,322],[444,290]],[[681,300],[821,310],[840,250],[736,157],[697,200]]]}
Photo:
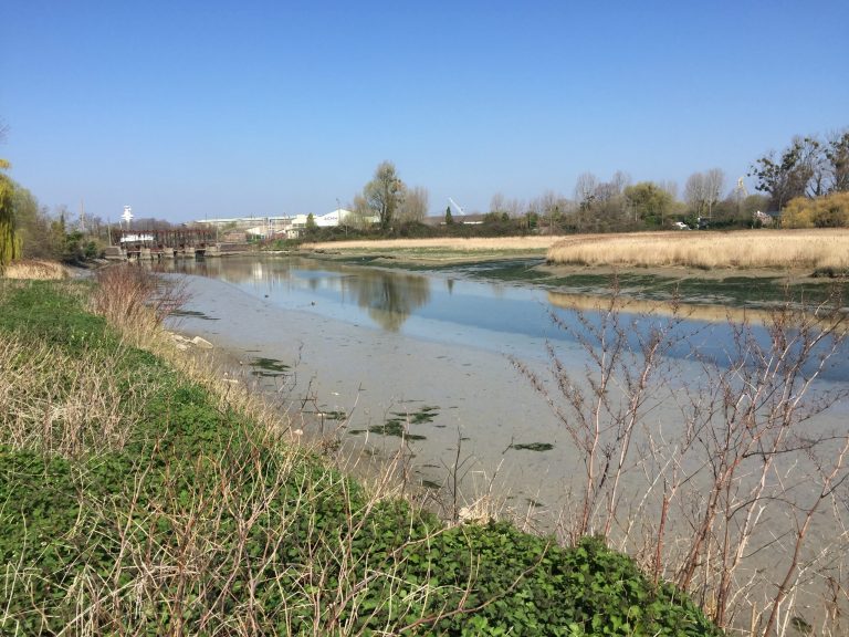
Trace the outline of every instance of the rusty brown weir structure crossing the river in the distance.
{"label": "rusty brown weir structure crossing the river in the distance", "polygon": [[214,228],[151,228],[148,230],[124,230],[113,228],[109,231],[111,246],[106,258],[126,260],[161,260],[196,257],[220,257],[223,252],[235,250],[220,243]]}

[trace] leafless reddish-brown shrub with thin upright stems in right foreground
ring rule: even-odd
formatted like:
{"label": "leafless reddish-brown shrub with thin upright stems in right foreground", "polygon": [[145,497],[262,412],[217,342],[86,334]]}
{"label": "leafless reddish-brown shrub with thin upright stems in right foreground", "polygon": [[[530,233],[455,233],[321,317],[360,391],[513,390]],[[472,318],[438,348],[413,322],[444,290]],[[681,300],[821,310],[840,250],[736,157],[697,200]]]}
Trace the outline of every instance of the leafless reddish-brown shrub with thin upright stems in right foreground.
{"label": "leafless reddish-brown shrub with thin upright stems in right foreground", "polygon": [[[845,343],[839,297],[787,303],[763,328],[730,321],[720,354],[700,349],[709,333],[682,332],[677,304],[661,318],[623,303],[614,290],[575,324],[553,314],[586,352],[583,372],[554,345],[548,375],[514,361],[583,458],[565,539],[604,535],[729,628],[789,634],[824,593],[838,634],[849,434],[818,417],[849,395],[819,383]],[[678,425],[653,418],[670,407]]]}

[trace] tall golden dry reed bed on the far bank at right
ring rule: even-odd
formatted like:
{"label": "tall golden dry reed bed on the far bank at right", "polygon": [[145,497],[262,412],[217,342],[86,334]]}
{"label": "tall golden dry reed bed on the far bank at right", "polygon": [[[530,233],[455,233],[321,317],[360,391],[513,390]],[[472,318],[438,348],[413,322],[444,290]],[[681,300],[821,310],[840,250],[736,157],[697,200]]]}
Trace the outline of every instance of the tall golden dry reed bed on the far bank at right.
{"label": "tall golden dry reed bed on the far bank at right", "polygon": [[842,271],[849,269],[849,230],[579,234],[552,246],[547,259],[576,265]]}

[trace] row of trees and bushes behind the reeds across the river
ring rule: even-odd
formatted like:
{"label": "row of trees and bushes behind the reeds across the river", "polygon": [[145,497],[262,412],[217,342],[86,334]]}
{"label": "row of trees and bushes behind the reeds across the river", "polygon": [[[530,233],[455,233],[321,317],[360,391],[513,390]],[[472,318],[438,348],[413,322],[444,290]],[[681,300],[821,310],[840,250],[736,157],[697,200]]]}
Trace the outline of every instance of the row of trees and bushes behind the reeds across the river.
{"label": "row of trees and bushes behind the reeds across the river", "polygon": [[[673,181],[632,182],[616,171],[609,179],[593,173],[577,177],[572,197],[553,190],[523,201],[495,194],[482,228],[459,230],[463,219],[448,207],[440,213],[440,230],[421,228],[427,218],[428,191],[408,188],[391,161],[382,161],[349,206],[349,223],[360,231],[406,236],[475,232],[611,232],[682,227],[752,227],[788,215],[792,227],[849,224],[849,208],[841,194],[849,189],[849,129],[794,137],[780,153],[769,152],[750,166],[757,192],[748,192],[743,177],[729,182],[720,168],[693,173],[679,196]],[[820,210],[818,212],[818,210]],[[801,210],[799,213],[798,211]],[[762,212],[758,217],[757,212]],[[432,226],[432,224],[431,224]],[[325,230],[333,234],[333,230]]]}

